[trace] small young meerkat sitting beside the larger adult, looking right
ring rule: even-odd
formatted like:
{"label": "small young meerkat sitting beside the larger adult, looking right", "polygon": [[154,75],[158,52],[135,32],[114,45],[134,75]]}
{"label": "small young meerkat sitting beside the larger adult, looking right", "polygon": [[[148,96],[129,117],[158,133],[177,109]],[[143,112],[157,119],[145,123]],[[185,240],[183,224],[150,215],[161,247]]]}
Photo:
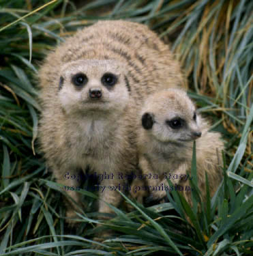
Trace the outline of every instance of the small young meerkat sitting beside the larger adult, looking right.
{"label": "small young meerkat sitting beside the larger adult, looking right", "polygon": [[[147,180],[146,188],[151,192],[151,198],[159,200],[166,197],[166,178],[169,178],[192,204],[187,171],[191,169],[194,140],[201,197],[205,200],[205,172],[211,196],[215,193],[222,180],[219,165],[224,144],[220,134],[209,132],[209,128],[182,89],[159,91],[147,98],[139,117],[138,152],[140,169],[153,177]],[[167,189],[170,188],[167,186]],[[135,192],[136,189],[131,192],[133,197],[143,196],[141,193],[134,195]]]}

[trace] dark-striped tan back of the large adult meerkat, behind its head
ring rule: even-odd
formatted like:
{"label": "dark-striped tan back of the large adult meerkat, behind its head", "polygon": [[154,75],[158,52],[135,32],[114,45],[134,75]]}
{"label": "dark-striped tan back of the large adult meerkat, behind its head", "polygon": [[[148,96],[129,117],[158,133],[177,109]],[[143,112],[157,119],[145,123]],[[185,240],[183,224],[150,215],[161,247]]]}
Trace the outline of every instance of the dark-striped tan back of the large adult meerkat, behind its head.
{"label": "dark-striped tan back of the large adult meerkat, behind its head", "polygon": [[107,20],[77,31],[48,55],[39,75],[42,102],[55,101],[61,67],[80,59],[125,63],[129,90],[138,101],[158,89],[186,86],[179,63],[153,31],[138,23]]}

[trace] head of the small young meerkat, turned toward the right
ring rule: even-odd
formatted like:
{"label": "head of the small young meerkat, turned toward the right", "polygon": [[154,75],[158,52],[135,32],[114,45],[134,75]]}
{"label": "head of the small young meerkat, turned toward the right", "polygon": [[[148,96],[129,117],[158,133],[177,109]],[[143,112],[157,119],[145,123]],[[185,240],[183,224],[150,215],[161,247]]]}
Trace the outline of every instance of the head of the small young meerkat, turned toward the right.
{"label": "head of the small young meerkat, turned toward the right", "polygon": [[142,126],[158,141],[185,143],[201,136],[196,107],[181,89],[159,91],[145,102]]}

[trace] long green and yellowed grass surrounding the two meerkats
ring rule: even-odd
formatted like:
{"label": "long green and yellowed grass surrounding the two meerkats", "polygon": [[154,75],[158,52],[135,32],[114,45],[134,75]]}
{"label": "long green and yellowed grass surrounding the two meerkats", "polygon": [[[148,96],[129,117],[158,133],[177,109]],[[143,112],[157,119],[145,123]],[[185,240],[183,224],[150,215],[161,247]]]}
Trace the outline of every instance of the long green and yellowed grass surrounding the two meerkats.
{"label": "long green and yellowed grass surrounding the two meerkats", "polygon": [[[252,1],[33,1],[0,5],[0,255],[250,255],[252,193]],[[42,8],[43,7],[43,8]],[[95,227],[95,196],[78,229],[64,224],[63,192],[36,144],[38,87],[46,53],[99,19],[128,19],[157,31],[183,66],[190,96],[225,144],[224,180],[207,202],[190,208],[175,191],[170,203],[135,210]],[[196,165],[192,164],[194,173]],[[196,171],[196,170],[195,170]],[[193,184],[197,186],[197,184]],[[207,195],[208,195],[207,180]],[[95,228],[94,228],[95,227]],[[92,240],[102,229],[115,234]],[[91,247],[100,245],[100,248]]]}

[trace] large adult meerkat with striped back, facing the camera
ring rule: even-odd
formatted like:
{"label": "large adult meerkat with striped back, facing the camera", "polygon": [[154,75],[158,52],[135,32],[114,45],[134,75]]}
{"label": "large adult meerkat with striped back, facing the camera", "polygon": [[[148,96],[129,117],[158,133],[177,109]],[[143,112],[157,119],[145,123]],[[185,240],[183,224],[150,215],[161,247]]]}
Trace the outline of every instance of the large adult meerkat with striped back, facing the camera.
{"label": "large adult meerkat with striped back, facing the camera", "polygon": [[[108,186],[127,182],[117,173],[136,171],[136,113],[149,94],[184,84],[179,63],[145,25],[100,21],[50,53],[39,79],[40,144],[48,167],[70,188],[78,186],[70,177],[79,169],[110,174],[101,182],[99,212],[112,212],[104,201],[119,205],[121,197]],[[76,190],[68,195],[81,203]],[[70,200],[68,217],[73,209]]]}

